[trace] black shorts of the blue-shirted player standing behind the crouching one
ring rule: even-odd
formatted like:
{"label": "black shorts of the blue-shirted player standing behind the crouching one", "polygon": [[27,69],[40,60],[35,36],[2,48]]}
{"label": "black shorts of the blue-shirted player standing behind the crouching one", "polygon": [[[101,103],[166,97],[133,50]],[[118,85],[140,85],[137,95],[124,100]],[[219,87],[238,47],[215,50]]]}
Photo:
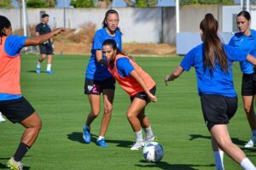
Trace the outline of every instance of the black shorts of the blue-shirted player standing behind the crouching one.
{"label": "black shorts of the blue-shirted player standing behind the crouching one", "polygon": [[96,81],[85,78],[84,82],[84,94],[96,94],[100,95],[103,89],[115,89],[115,80],[113,77],[109,77],[103,81]]}

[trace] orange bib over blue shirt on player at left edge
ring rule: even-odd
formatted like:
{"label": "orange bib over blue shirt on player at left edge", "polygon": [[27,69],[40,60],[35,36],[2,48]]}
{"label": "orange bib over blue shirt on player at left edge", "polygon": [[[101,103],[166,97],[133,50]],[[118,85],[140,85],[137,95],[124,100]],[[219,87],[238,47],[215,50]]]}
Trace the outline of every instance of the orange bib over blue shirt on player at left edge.
{"label": "orange bib over blue shirt on player at left edge", "polygon": [[20,91],[20,49],[26,37],[2,37],[0,44],[0,100],[18,99]]}

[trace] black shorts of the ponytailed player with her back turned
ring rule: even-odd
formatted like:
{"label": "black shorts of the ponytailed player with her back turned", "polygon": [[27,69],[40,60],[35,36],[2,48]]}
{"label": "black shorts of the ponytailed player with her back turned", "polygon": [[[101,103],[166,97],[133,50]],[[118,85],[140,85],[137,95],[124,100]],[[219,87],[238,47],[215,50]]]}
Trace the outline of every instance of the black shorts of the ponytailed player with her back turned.
{"label": "black shorts of the ponytailed player with her back turned", "polygon": [[237,97],[202,94],[201,109],[209,131],[216,124],[227,124],[237,110]]}

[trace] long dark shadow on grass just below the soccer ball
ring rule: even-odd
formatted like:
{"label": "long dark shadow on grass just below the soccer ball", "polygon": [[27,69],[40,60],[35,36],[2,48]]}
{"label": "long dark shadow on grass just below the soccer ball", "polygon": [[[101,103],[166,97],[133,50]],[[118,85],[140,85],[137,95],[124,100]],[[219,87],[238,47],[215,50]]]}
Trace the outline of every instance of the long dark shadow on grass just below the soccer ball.
{"label": "long dark shadow on grass just below the soccer ball", "polygon": [[213,164],[211,165],[193,165],[193,164],[170,164],[166,161],[160,161],[157,163],[148,163],[148,161],[142,160],[142,163],[147,163],[147,165],[135,165],[137,167],[158,167],[160,169],[172,169],[172,170],[196,170],[194,167],[215,167]]}

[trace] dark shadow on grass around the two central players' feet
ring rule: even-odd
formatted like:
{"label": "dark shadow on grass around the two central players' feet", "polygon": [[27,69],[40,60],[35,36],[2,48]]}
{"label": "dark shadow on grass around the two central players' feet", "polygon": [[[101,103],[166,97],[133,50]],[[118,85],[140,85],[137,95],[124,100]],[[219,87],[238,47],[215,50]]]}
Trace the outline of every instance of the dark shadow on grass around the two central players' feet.
{"label": "dark shadow on grass around the two central players' feet", "polygon": [[[98,136],[93,133],[90,133],[90,136],[91,136],[91,142],[96,144],[96,140]],[[67,134],[67,139],[84,144],[83,133],[73,132],[73,133]],[[111,144],[116,144],[116,146],[124,147],[124,148],[131,147],[131,144],[133,144],[133,142],[131,141],[124,141],[124,140],[106,139],[106,142]]]}

